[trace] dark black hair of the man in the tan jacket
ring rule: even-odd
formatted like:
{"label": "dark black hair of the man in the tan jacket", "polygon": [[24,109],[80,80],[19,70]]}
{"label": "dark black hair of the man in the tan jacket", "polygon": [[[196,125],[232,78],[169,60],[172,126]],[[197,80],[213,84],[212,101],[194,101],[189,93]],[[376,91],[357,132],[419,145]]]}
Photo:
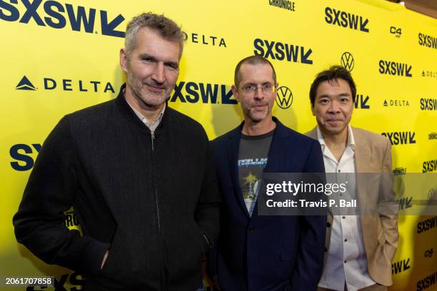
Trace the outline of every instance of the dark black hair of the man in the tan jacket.
{"label": "dark black hair of the man in the tan jacket", "polygon": [[343,68],[342,66],[331,66],[331,68],[329,68],[328,70],[321,71],[320,73],[318,73],[313,83],[311,84],[311,88],[310,88],[311,107],[314,107],[314,102],[316,101],[317,88],[320,85],[320,83],[324,81],[336,82],[337,79],[342,79],[348,82],[349,87],[351,88],[352,101],[355,102],[356,86],[351,76],[351,73],[349,73],[349,71],[346,70],[346,68]]}

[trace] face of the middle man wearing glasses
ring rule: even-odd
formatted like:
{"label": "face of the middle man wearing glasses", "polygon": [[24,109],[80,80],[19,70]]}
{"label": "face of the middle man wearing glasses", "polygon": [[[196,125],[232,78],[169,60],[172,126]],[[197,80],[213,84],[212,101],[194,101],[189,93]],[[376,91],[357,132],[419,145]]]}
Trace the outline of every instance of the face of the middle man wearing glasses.
{"label": "face of the middle man wearing glasses", "polygon": [[[232,86],[232,92],[243,109],[246,123],[271,121],[271,110],[276,98],[276,84],[271,66],[268,63],[243,63],[240,76],[238,88]],[[253,86],[257,87],[255,91],[250,90]]]}

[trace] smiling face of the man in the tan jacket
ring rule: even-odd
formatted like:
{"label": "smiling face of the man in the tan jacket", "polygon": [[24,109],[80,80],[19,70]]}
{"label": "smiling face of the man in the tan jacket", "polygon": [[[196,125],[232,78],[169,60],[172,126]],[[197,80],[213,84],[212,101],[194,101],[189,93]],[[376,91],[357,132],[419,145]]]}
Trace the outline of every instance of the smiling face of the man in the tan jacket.
{"label": "smiling face of the man in the tan jacket", "polygon": [[320,83],[311,111],[324,135],[341,135],[347,132],[353,112],[352,93],[348,82],[334,79]]}

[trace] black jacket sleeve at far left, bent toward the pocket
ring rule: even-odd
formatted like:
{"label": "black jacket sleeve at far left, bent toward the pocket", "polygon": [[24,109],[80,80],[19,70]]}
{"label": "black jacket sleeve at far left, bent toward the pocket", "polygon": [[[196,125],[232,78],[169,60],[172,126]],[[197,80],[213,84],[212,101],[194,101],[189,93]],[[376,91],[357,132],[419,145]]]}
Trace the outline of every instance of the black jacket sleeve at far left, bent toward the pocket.
{"label": "black jacket sleeve at far left, bent toward the pocket", "polygon": [[79,187],[68,117],[59,121],[36,158],[13,223],[18,242],[44,262],[86,274],[99,272],[109,244],[64,225]]}

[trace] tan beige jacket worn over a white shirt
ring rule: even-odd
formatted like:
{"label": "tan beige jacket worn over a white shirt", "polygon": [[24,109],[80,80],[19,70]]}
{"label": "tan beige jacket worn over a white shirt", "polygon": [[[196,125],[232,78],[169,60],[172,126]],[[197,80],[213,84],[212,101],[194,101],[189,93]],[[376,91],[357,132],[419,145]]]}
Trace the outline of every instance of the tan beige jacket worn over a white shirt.
{"label": "tan beige jacket worn over a white shirt", "polygon": [[[355,140],[356,173],[392,173],[391,168],[391,143],[388,138],[360,128],[352,128]],[[306,136],[317,140],[317,128],[308,131]],[[384,176],[386,177],[386,176]],[[376,199],[373,193],[378,193],[380,187],[388,189],[386,200],[395,200],[393,179],[384,179],[376,183],[369,183],[357,177],[358,205],[368,205],[369,200]],[[397,205],[391,205],[397,210]],[[394,210],[396,212],[396,210]],[[393,211],[391,212],[393,213]],[[333,216],[328,213],[328,227],[326,228],[326,249],[328,250],[331,238],[331,225]],[[371,278],[381,285],[393,284],[391,278],[391,260],[398,247],[398,216],[379,213],[377,216],[361,216],[361,229],[363,242],[366,249],[368,273]]]}

